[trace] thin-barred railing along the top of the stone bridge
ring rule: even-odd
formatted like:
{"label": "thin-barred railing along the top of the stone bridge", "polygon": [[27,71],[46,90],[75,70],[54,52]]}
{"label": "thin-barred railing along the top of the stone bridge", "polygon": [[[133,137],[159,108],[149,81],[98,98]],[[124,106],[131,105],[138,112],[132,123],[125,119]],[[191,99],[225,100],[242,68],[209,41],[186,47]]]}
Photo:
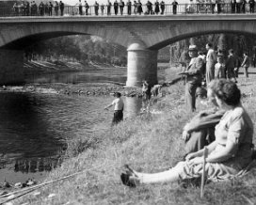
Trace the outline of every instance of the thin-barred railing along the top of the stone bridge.
{"label": "thin-barred railing along the top of the stone bridge", "polygon": [[[116,16],[114,7],[112,6],[110,9],[110,14],[107,13],[107,7],[103,6],[104,9],[101,9],[102,6],[99,6],[98,9],[98,15],[96,14],[97,11],[94,6],[89,6],[88,8],[88,16]],[[161,7],[159,7],[159,13],[158,15],[175,15],[175,14],[227,14],[227,13],[234,13],[234,14],[240,14],[240,13],[254,13],[255,8],[250,8],[249,4],[246,4],[246,6],[243,8],[242,5],[232,7],[232,4],[179,4],[176,8],[173,7],[172,4],[166,4],[165,9],[162,10]],[[51,9],[49,8],[42,8],[34,7],[34,8],[25,8],[21,6],[16,6],[14,8],[0,8],[0,16],[1,17],[11,17],[11,16],[87,16],[86,15],[86,8],[83,6],[82,9],[82,15],[79,14],[79,8],[77,6],[65,6],[63,12],[58,8],[57,10],[55,8],[52,8],[52,12],[50,12]],[[152,6],[152,12],[147,8],[146,5],[142,5],[142,12],[135,12],[135,7],[132,6],[131,8],[131,14],[128,14],[128,7],[125,6],[123,8],[122,15],[128,16],[140,16],[140,15],[156,15],[155,13],[155,7]],[[120,7],[118,9],[117,16],[120,16]]]}

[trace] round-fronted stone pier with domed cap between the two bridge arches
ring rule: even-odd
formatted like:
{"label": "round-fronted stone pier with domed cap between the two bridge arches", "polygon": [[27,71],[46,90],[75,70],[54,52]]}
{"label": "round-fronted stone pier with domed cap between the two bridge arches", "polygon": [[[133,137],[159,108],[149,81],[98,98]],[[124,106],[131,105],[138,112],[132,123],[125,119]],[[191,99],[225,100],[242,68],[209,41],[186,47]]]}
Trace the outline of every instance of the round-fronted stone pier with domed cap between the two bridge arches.
{"label": "round-fronted stone pier with domed cap between the two bridge arches", "polygon": [[141,87],[142,81],[157,84],[158,51],[147,49],[141,43],[133,43],[127,49],[127,87]]}

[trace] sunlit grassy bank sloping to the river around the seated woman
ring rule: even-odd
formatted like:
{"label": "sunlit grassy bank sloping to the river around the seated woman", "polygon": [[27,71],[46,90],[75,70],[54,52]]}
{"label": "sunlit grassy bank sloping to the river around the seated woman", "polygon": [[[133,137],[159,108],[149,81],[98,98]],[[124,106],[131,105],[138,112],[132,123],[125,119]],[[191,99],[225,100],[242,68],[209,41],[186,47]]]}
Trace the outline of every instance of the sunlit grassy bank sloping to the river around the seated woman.
{"label": "sunlit grassy bank sloping to the river around the seated woman", "polygon": [[[239,78],[242,102],[252,120],[256,121],[256,93],[251,75]],[[168,87],[167,95],[154,106],[162,115],[127,119],[104,134],[77,137],[70,143],[68,158],[52,171],[48,179],[62,178],[84,170],[69,180],[58,181],[33,194],[19,198],[17,204],[255,204],[256,170],[233,181],[212,182],[200,189],[184,189],[177,182],[141,185],[136,188],[121,184],[120,173],[124,164],[136,170],[158,172],[174,166],[184,154],[181,139],[184,123],[191,116],[184,111],[183,83]],[[198,110],[207,107],[198,104]],[[256,127],[256,126],[255,126]],[[255,143],[255,138],[254,138]],[[86,149],[84,149],[86,148]],[[50,194],[56,197],[49,198]]]}

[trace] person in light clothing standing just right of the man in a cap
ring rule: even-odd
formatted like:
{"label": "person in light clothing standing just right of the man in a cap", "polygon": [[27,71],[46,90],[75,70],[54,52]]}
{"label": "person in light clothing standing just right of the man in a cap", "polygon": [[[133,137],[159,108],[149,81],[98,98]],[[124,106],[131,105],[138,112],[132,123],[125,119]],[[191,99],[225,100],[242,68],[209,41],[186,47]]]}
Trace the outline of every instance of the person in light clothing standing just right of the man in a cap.
{"label": "person in light clothing standing just right of the man in a cap", "polygon": [[216,52],[213,49],[212,43],[207,43],[205,46],[208,53],[206,55],[206,85],[208,86],[209,83],[215,79],[215,65],[216,65]]}

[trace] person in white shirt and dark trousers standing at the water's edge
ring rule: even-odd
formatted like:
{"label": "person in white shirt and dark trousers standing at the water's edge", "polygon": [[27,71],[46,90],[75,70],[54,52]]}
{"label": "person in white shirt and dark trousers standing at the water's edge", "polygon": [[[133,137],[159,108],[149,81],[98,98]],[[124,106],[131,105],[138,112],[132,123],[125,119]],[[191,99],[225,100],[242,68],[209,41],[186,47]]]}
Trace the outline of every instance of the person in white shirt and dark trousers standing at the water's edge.
{"label": "person in white shirt and dark trousers standing at the water's edge", "polygon": [[118,124],[120,121],[122,121],[123,119],[123,107],[124,107],[124,103],[121,100],[120,96],[120,92],[116,92],[114,94],[114,96],[116,97],[116,99],[109,105],[107,105],[106,107],[104,107],[104,109],[108,109],[109,107],[111,107],[112,105],[114,105],[114,117],[112,120],[112,125]]}

